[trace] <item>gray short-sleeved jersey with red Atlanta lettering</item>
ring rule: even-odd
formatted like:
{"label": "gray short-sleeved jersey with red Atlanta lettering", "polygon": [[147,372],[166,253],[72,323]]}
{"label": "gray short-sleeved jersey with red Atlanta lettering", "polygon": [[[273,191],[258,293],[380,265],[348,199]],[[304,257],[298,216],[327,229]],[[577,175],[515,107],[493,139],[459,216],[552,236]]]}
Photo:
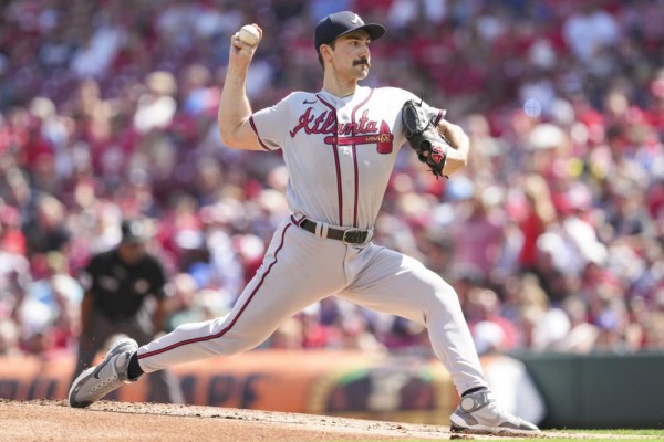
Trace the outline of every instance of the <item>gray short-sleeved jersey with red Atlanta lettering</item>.
{"label": "gray short-sleeved jersey with red Atlanta lettering", "polygon": [[[405,137],[401,108],[412,93],[357,87],[339,98],[295,92],[251,116],[261,146],[281,148],[295,214],[331,225],[372,229]],[[428,108],[435,124],[444,112]]]}

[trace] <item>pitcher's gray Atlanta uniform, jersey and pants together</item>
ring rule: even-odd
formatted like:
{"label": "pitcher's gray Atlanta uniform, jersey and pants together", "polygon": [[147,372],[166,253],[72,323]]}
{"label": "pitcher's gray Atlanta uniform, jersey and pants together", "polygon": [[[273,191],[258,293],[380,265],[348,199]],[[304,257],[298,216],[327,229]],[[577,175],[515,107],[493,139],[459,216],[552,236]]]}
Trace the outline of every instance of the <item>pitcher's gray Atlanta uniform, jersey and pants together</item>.
{"label": "pitcher's gray Atlanta uniform, jersey and pants together", "polygon": [[[330,227],[373,229],[404,144],[401,109],[413,98],[398,88],[359,87],[346,98],[297,92],[251,116],[261,146],[283,150],[293,215],[274,232],[262,265],[232,311],[181,325],[141,347],[144,371],[253,348],[284,319],[336,295],[425,325],[459,393],[487,385],[449,284],[413,257],[369,240],[352,244],[326,233]],[[436,124],[444,115],[428,112]],[[315,231],[305,230],[305,219],[317,223]]]}

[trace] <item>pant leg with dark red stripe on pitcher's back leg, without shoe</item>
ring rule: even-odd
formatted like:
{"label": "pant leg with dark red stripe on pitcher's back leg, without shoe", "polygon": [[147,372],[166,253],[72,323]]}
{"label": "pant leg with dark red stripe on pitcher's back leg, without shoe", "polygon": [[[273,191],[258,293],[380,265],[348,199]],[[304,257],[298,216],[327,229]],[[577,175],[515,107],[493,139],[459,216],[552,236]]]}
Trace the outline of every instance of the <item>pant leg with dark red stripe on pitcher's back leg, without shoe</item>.
{"label": "pant leg with dark red stripe on pitcher's back leg, without shoe", "polygon": [[292,224],[278,233],[263,265],[227,316],[181,325],[138,349],[145,372],[253,348],[284,319],[345,285],[339,265],[344,248],[317,251],[309,242],[319,240]]}

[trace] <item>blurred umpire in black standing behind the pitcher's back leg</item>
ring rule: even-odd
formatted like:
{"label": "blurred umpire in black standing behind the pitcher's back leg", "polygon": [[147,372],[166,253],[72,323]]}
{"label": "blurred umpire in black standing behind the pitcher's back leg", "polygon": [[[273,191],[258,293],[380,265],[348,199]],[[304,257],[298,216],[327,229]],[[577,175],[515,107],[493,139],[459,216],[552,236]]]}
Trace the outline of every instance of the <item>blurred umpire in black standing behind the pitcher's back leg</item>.
{"label": "blurred umpire in black standing behind the pitcher's back leg", "polygon": [[[114,335],[127,335],[141,346],[164,329],[166,275],[159,261],[146,251],[146,224],[125,220],[121,230],[120,244],[92,256],[81,274],[85,294],[74,377],[113,344],[108,340]],[[148,382],[148,401],[183,402],[179,382],[170,371],[154,372]]]}

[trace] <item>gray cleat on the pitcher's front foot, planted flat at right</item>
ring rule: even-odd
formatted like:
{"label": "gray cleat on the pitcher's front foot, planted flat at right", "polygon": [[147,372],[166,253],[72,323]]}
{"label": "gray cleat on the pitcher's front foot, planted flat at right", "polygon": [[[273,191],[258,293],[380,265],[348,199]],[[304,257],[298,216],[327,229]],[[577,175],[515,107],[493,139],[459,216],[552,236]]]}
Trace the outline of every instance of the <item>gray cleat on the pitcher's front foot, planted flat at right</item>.
{"label": "gray cleat on the pitcher's front foot, planted flat at right", "polygon": [[464,396],[449,418],[455,433],[532,435],[540,430],[530,422],[501,409],[488,390]]}

